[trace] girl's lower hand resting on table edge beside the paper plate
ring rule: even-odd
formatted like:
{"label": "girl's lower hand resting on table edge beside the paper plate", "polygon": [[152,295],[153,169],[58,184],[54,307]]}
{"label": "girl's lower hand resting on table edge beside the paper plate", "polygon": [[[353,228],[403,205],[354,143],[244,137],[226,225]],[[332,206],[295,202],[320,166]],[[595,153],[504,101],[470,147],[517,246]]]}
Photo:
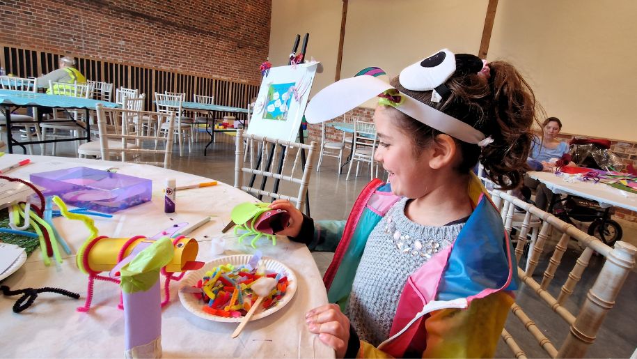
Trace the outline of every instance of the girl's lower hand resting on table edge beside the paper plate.
{"label": "girl's lower hand resting on table edge beside the paper plate", "polygon": [[305,315],[308,329],[319,335],[324,344],[336,351],[336,358],[343,358],[349,342],[349,319],[336,304],[322,305]]}

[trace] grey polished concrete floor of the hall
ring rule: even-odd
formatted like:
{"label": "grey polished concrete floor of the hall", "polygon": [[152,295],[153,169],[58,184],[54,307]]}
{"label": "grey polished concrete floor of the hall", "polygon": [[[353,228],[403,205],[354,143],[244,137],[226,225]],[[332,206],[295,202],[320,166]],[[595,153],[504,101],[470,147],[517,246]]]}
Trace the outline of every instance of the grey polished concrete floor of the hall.
{"label": "grey polished concrete floor of the hall", "polygon": [[[182,158],[177,155],[175,147],[172,169],[214,178],[225,183],[234,183],[234,137],[227,135],[217,137],[218,141],[208,148],[207,157],[203,156],[205,142],[196,143],[192,153],[184,155]],[[21,153],[19,150],[18,152]],[[36,154],[39,153],[36,152]],[[58,149],[58,155],[74,157],[74,147],[65,144]],[[350,178],[349,181],[345,181],[345,174],[338,175],[336,167],[335,158],[324,158],[321,171],[313,171],[309,188],[310,214],[317,220],[344,220],[347,218],[357,194],[369,181],[369,175],[364,175],[368,172],[364,171],[358,178]],[[285,192],[285,190],[286,188],[282,187],[282,191]],[[219,200],[223,201],[223,199]],[[624,229],[624,240],[634,245],[637,244],[637,226],[630,222],[621,220],[620,222]],[[553,293],[554,296],[557,296],[561,285],[567,278],[568,271],[580,253],[581,249],[577,245],[569,245],[562,260],[563,265],[558,269],[556,278],[549,288],[549,292]],[[551,252],[542,256],[542,263],[535,272],[538,281],[540,281],[541,270],[546,268],[550,256]],[[331,257],[332,254],[327,253],[315,254],[315,261],[322,272],[329,265]],[[601,257],[592,258],[576,292],[565,304],[574,314],[576,314],[576,308],[583,303],[588,288],[595,281],[602,264]],[[518,291],[517,303],[524,308],[526,314],[537,323],[542,329],[542,333],[549,337],[551,342],[558,344],[563,341],[568,333],[567,324],[558,319],[558,315],[553,313],[549,307],[543,305],[528,287],[522,286]],[[616,300],[615,307],[608,312],[606,320],[599,329],[595,344],[592,344],[588,349],[587,357],[628,358],[631,356],[637,347],[637,326],[635,323],[637,323],[637,272],[634,270],[627,278],[620,296]],[[507,328],[530,358],[546,357],[546,353],[540,349],[535,339],[514,315],[509,316]],[[513,353],[501,341],[496,351],[496,357],[510,358],[512,356]]]}

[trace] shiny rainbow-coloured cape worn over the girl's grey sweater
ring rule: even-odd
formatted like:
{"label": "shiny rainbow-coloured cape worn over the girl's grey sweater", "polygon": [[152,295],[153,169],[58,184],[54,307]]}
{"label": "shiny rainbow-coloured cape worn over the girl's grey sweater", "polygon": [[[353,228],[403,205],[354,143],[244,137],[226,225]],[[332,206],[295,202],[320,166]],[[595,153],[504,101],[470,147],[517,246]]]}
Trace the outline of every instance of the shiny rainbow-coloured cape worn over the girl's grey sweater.
{"label": "shiny rainbow-coloured cape worn over the girl's grey sweater", "polygon": [[[390,337],[378,348],[361,342],[359,357],[493,356],[517,289],[517,264],[500,213],[475,176],[469,197],[474,210],[453,245],[409,276]],[[356,200],[323,278],[341,310],[370,232],[399,199],[374,180]]]}

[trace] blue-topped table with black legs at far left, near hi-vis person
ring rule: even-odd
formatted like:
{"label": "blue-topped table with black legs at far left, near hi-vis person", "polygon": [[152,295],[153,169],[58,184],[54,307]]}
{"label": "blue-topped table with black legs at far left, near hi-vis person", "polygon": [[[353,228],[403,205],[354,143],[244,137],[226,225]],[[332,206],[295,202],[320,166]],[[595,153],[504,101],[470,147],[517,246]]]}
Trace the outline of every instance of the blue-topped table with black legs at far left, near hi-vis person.
{"label": "blue-topped table with black legs at far left, near hi-vis person", "polygon": [[[49,107],[58,109],[84,109],[86,112],[86,119],[88,119],[88,110],[95,109],[95,106],[100,103],[104,107],[120,107],[120,105],[113,102],[91,100],[90,98],[76,98],[72,96],[61,95],[49,95],[47,93],[36,93],[31,91],[14,91],[14,90],[1,90],[0,89],[0,106],[2,107],[6,116],[7,125],[7,146],[8,152],[13,153],[13,146],[17,145],[22,147],[24,153],[26,153],[25,144],[49,144],[53,142],[68,142],[68,141],[81,141],[86,139],[86,142],[91,142],[91,131],[86,131],[86,137],[81,138],[68,138],[68,139],[48,139],[45,141],[29,141],[29,142],[17,142],[13,138],[12,133],[12,121],[11,121],[11,107]],[[60,120],[60,122],[74,122],[73,120]],[[20,123],[33,123],[31,121],[19,121]],[[40,116],[37,119],[38,125],[42,122]],[[17,123],[13,121],[13,123]]]}

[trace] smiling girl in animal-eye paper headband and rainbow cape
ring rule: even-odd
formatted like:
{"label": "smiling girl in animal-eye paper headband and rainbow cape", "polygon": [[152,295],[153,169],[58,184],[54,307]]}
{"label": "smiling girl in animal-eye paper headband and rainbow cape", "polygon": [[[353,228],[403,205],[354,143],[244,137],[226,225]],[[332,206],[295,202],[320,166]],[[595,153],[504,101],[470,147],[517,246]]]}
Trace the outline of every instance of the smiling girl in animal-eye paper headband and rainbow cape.
{"label": "smiling girl in animal-eye paper headband and rainbow cape", "polygon": [[332,119],[373,96],[375,160],[389,183],[369,183],[347,222],[313,222],[288,201],[272,204],[292,215],[280,234],[336,251],[324,276],[333,304],[310,310],[308,329],[339,358],[493,356],[516,264],[471,169],[480,160],[502,188],[517,187],[533,92],[508,63],[443,49],[391,85],[360,76],[328,86],[306,118]]}

